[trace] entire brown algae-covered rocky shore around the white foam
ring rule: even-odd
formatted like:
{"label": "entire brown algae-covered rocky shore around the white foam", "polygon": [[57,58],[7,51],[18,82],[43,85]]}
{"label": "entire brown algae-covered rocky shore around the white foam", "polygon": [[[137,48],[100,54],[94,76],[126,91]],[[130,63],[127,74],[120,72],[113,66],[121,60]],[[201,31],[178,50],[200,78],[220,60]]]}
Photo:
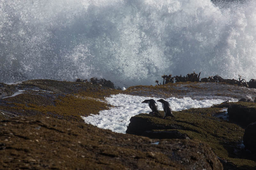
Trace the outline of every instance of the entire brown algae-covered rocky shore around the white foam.
{"label": "entire brown algae-covered rocky shore around the white foam", "polygon": [[[246,126],[255,120],[255,103],[227,102],[211,108],[192,108],[173,112],[174,119],[165,120],[139,114],[131,118],[127,134],[83,123],[81,116],[108,109],[111,106],[104,97],[118,93],[162,98],[190,96],[197,100],[204,99],[205,93],[227,100],[256,96],[255,89],[220,83],[133,86],[125,91],[83,81],[28,80],[0,84],[3,158],[0,169],[254,169],[256,166],[251,149],[254,146],[248,142],[255,139],[255,133],[248,131],[244,137]],[[15,96],[5,98],[12,95]],[[223,108],[228,108],[228,121],[214,116],[223,113]],[[254,125],[250,129],[253,128]],[[241,146],[246,143],[243,137],[247,140],[246,148]]]}

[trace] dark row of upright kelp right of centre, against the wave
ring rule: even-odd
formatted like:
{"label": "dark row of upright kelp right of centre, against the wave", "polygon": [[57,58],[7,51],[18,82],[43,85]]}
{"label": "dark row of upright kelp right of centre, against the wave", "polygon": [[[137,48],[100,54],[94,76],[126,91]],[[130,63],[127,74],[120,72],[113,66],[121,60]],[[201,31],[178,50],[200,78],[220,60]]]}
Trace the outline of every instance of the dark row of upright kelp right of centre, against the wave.
{"label": "dark row of upright kelp right of centre, against the wave", "polygon": [[[172,77],[172,75],[170,74],[169,76],[167,75],[163,75],[162,78],[163,80],[163,85],[164,84],[168,84],[168,83],[175,83],[176,82],[211,82],[211,83],[227,83],[230,85],[239,85],[239,86],[244,86],[244,87],[249,87],[249,88],[256,88],[256,80],[255,79],[251,79],[249,82],[246,82],[245,79],[242,78],[242,76],[238,75],[238,79],[224,79],[222,77],[220,77],[219,75],[215,75],[215,76],[211,76],[208,78],[201,78],[200,80],[200,74],[196,74],[191,73],[191,74],[187,74],[186,77],[185,76],[175,76]],[[156,80],[157,85],[159,85],[158,80]],[[160,83],[161,85],[161,83]]]}

